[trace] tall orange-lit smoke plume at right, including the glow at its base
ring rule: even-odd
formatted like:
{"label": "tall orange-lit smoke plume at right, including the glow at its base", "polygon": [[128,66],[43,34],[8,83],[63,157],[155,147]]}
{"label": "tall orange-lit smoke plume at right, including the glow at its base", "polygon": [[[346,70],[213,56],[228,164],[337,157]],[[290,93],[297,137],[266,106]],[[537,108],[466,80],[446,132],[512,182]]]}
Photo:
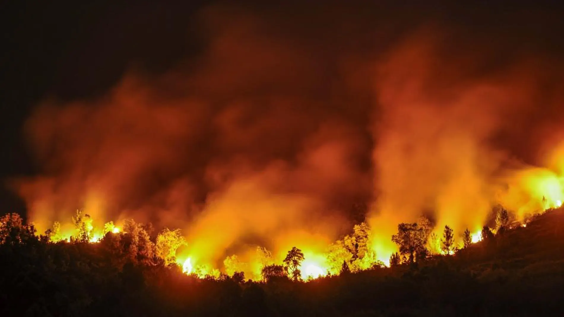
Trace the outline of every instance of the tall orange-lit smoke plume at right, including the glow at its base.
{"label": "tall orange-lit smoke plume at right, including the glow at its base", "polygon": [[396,249],[389,239],[395,224],[422,214],[434,218],[439,236],[445,225],[460,236],[465,228],[479,231],[500,203],[520,220],[523,209],[562,204],[562,173],[506,169],[508,153],[492,144],[498,133],[518,128],[511,121],[515,115],[535,108],[535,81],[542,74],[521,60],[503,73],[473,78],[468,73],[478,67],[481,52],[446,57],[446,38],[437,34],[418,32],[376,64],[377,197],[370,222],[381,260]]}

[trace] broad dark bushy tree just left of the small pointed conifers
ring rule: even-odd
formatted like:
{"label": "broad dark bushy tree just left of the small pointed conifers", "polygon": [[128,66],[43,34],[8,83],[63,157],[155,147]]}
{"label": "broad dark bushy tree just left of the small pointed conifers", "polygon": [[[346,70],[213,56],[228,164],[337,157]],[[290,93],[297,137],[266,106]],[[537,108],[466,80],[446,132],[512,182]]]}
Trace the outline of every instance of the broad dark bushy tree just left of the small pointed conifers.
{"label": "broad dark bushy tree just left of the small pointed conifers", "polygon": [[418,224],[399,224],[398,233],[391,237],[391,240],[398,245],[399,253],[407,256],[409,263],[413,264],[417,260],[426,257],[428,250],[425,248],[428,229],[418,226]]}

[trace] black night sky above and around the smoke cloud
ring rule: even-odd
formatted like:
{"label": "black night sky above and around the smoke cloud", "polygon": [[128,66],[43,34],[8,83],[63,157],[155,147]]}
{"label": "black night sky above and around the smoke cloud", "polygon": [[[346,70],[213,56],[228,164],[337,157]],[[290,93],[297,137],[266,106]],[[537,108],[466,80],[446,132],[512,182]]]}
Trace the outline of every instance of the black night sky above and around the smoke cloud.
{"label": "black night sky above and around the smoke cloud", "polygon": [[[512,1],[492,4],[483,1],[473,2],[472,8],[447,5],[448,1],[425,1],[425,5],[380,2],[365,8],[360,4],[349,4],[342,10],[359,15],[379,11],[377,16],[392,20],[397,15],[406,28],[420,21],[443,21],[467,29],[477,37],[498,36],[510,46],[562,56],[564,30],[561,20],[564,15],[558,2],[562,3]],[[116,1],[90,4],[83,1],[5,1],[0,5],[2,179],[37,173],[22,130],[25,119],[41,100],[96,96],[116,84],[131,67],[158,74],[180,60],[198,55],[205,39],[199,32],[195,16],[209,2],[132,3],[134,5]],[[287,25],[296,28],[289,32],[300,33],[306,38],[322,33],[320,30],[328,19],[319,17],[319,12],[331,16],[338,15],[341,10],[339,6],[328,5],[269,7],[245,2],[241,6],[259,12],[259,15],[263,11],[271,15],[275,12],[274,15],[286,20]],[[294,20],[296,25],[292,23]],[[362,25],[355,32],[359,29]],[[347,37],[347,34],[343,31],[336,36]],[[0,190],[0,203],[2,213],[24,208],[7,189]]]}

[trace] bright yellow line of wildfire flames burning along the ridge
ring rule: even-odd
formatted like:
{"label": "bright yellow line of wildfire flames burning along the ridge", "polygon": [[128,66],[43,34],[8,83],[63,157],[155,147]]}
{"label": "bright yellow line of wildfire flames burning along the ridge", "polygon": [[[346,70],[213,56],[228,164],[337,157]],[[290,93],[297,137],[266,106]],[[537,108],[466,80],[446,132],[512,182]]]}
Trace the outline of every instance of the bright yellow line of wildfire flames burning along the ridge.
{"label": "bright yellow line of wildfire flames burning along the ridge", "polygon": [[[526,169],[518,173],[520,191],[510,189],[507,197],[513,200],[507,200],[509,206],[518,206],[518,208],[510,209],[517,217],[524,217],[523,210],[527,212],[544,212],[550,208],[562,207],[564,201],[564,177],[557,175],[556,172],[549,171],[543,168]],[[513,190],[513,191],[512,191]],[[524,193],[524,194],[523,194]],[[519,195],[516,195],[519,194]],[[519,199],[515,197],[519,196]],[[503,200],[503,199],[502,199]],[[513,205],[512,205],[513,203]],[[517,204],[521,203],[521,204]],[[522,227],[527,226],[526,218],[518,218]],[[87,213],[77,211],[76,215],[72,217],[72,223],[65,223],[61,225],[55,222],[52,227],[46,231],[47,236],[51,242],[73,240],[86,241],[89,243],[98,243],[107,234],[127,234],[133,230],[134,232],[142,232],[140,237],[148,234],[144,231],[142,224],[135,224],[134,221],[126,222],[124,226],[119,227],[113,221],[106,222],[103,227],[96,227],[94,219]],[[130,229],[128,229],[130,228]],[[133,228],[133,229],[131,229]],[[297,245],[309,245],[303,250],[304,259],[299,264],[301,271],[301,278],[303,280],[316,279],[327,274],[339,274],[342,267],[346,264],[351,271],[366,270],[374,265],[390,265],[390,255],[396,251],[396,247],[390,242],[387,235],[378,234],[373,232],[369,225],[362,223],[355,225],[350,234],[342,236],[340,240],[331,243],[327,246],[325,251],[323,245],[318,245],[316,248],[310,248],[310,236],[304,235],[296,240]],[[135,233],[138,234],[138,233]],[[431,235],[434,240],[428,241],[428,247],[434,254],[444,254],[445,252],[440,249],[440,231]],[[476,230],[471,235],[472,243],[480,242],[482,231]],[[431,238],[429,238],[431,239]],[[195,242],[197,244],[198,240]],[[293,242],[294,243],[294,242]],[[177,258],[177,249],[182,245],[187,245],[185,237],[179,229],[177,230],[162,230],[154,242],[157,257],[162,258],[165,264],[177,263],[182,267],[185,274],[195,274],[199,278],[205,276],[219,276],[220,271],[217,267],[211,265],[211,261],[206,262],[202,259],[208,259],[205,248],[192,249],[190,256],[180,256]],[[286,247],[286,246],[285,246]],[[194,250],[199,250],[195,252]],[[314,251],[315,250],[315,251]],[[434,250],[434,251],[433,251]],[[266,248],[257,247],[245,254],[233,254],[228,256],[223,261],[222,271],[227,274],[234,274],[235,272],[244,272],[246,278],[259,279],[261,278],[261,270],[266,265],[280,264],[285,256],[283,248],[277,249],[276,256]],[[239,256],[239,257],[238,257]]]}

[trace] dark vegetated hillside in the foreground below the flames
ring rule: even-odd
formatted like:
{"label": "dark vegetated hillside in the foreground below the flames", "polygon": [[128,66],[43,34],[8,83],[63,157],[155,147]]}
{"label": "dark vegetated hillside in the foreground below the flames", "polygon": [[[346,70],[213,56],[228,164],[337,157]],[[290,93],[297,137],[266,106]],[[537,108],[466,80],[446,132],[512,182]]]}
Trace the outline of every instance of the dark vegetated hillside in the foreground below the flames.
{"label": "dark vegetated hillside in the foreground below the flames", "polygon": [[[394,236],[403,255],[392,267],[351,273],[343,262],[341,275],[310,282],[288,278],[303,258],[293,249],[285,266],[263,271],[265,283],[241,273],[198,279],[142,248],[124,252],[143,237],[50,243],[5,217],[0,316],[562,316],[564,209],[514,229],[501,215],[497,225],[504,230],[486,227],[482,242],[465,240],[448,256],[426,255],[408,237],[425,230],[408,225],[414,231]],[[452,253],[451,234],[441,239],[444,252]]]}

